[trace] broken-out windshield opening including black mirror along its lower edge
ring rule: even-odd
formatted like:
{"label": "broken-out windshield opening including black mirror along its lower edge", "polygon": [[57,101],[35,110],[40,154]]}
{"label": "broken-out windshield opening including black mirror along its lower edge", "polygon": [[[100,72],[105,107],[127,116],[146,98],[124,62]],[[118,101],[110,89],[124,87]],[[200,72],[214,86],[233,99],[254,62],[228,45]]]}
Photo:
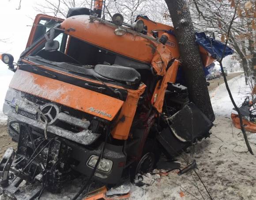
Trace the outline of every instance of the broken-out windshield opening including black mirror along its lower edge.
{"label": "broken-out windshield opening including black mirror along its lower edge", "polygon": [[[29,57],[30,61],[47,65],[61,71],[111,84],[122,86],[139,85],[142,73],[149,73],[150,66],[130,58],[117,55],[108,50],[91,45],[85,41],[63,33],[55,28],[54,40],[60,44],[56,51],[47,51],[45,43],[37,47]],[[109,66],[99,75],[94,71],[97,65]],[[104,68],[104,67],[103,67]],[[134,77],[131,77],[131,74]],[[136,80],[132,82],[131,80]]]}

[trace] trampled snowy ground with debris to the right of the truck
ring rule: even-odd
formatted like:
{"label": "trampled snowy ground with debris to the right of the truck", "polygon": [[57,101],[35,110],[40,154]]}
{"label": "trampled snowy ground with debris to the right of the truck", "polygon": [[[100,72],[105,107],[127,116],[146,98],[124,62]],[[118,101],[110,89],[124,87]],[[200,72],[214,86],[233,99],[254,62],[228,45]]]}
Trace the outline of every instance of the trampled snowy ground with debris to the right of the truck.
{"label": "trampled snowy ground with debris to the right of the truck", "polygon": [[[236,77],[228,83],[235,102],[240,105],[249,91],[244,77]],[[213,199],[256,200],[256,156],[247,152],[241,130],[232,125],[230,113],[233,105],[225,85],[220,85],[210,95],[216,115],[211,138],[199,142],[189,153],[181,154],[177,160],[185,167],[183,158],[192,162],[193,154],[199,168],[197,172]],[[254,143],[255,141],[251,140]],[[251,143],[251,147],[256,153],[256,145]],[[151,175],[144,175],[144,178],[152,179]],[[132,200],[209,199],[207,191],[194,172],[179,176],[177,171],[172,171],[167,176],[147,182],[151,182],[151,185],[142,188],[132,185]]]}

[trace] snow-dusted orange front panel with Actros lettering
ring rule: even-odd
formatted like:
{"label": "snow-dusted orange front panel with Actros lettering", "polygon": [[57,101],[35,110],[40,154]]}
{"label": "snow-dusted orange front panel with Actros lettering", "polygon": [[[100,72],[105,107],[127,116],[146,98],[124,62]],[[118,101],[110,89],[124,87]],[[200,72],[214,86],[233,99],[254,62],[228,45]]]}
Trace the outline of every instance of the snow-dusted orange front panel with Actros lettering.
{"label": "snow-dusted orange front panel with Actros lettering", "polygon": [[124,103],[98,92],[19,69],[9,87],[109,121],[114,119]]}

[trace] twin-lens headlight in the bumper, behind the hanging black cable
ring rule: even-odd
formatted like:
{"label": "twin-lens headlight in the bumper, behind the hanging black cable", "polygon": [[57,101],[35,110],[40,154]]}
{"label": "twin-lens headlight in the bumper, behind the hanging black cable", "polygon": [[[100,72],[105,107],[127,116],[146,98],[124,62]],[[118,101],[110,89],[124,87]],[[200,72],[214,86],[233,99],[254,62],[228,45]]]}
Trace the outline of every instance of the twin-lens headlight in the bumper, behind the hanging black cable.
{"label": "twin-lens headlight in the bumper, behind the hanging black cable", "polygon": [[[94,166],[97,163],[99,156],[90,156],[90,158],[87,161],[87,166],[94,168]],[[97,167],[97,170],[103,171],[103,172],[109,172],[112,169],[113,161],[107,160],[102,158],[102,160],[99,162],[99,165]]]}

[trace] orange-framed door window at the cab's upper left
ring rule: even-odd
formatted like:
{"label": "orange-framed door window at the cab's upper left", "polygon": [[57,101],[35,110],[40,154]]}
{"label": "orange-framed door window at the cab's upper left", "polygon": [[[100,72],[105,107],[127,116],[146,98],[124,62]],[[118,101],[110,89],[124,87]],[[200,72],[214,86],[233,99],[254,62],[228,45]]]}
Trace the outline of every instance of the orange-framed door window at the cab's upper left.
{"label": "orange-framed door window at the cab's upper left", "polygon": [[34,20],[34,23],[30,32],[30,36],[26,44],[26,48],[29,47],[38,39],[40,39],[42,36],[44,36],[45,33],[50,28],[52,28],[57,24],[60,24],[63,21],[64,19],[56,18],[49,15],[42,15],[42,14],[37,15]]}

